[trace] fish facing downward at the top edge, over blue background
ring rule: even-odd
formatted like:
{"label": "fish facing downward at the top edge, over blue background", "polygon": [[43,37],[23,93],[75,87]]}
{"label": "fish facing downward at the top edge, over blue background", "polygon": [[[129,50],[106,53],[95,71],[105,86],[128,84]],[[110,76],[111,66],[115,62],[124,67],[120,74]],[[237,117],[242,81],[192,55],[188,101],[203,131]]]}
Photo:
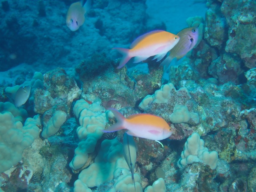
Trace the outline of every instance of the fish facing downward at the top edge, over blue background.
{"label": "fish facing downward at the top edge, over blue background", "polygon": [[76,31],[84,24],[84,14],[91,8],[91,0],[78,1],[68,8],[66,24],[71,31]]}

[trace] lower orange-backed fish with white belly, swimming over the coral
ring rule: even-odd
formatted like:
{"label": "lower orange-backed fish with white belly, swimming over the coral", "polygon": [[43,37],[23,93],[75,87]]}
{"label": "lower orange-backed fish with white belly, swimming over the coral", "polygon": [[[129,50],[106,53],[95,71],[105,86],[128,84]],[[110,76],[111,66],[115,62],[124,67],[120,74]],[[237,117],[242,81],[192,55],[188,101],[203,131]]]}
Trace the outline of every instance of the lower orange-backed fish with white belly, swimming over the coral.
{"label": "lower orange-backed fish with white belly, swimming over the coral", "polygon": [[150,140],[163,140],[172,135],[172,130],[167,122],[158,116],[151,114],[135,114],[125,118],[116,109],[110,108],[117,119],[117,123],[109,126],[103,132],[114,132],[127,129],[127,134]]}

